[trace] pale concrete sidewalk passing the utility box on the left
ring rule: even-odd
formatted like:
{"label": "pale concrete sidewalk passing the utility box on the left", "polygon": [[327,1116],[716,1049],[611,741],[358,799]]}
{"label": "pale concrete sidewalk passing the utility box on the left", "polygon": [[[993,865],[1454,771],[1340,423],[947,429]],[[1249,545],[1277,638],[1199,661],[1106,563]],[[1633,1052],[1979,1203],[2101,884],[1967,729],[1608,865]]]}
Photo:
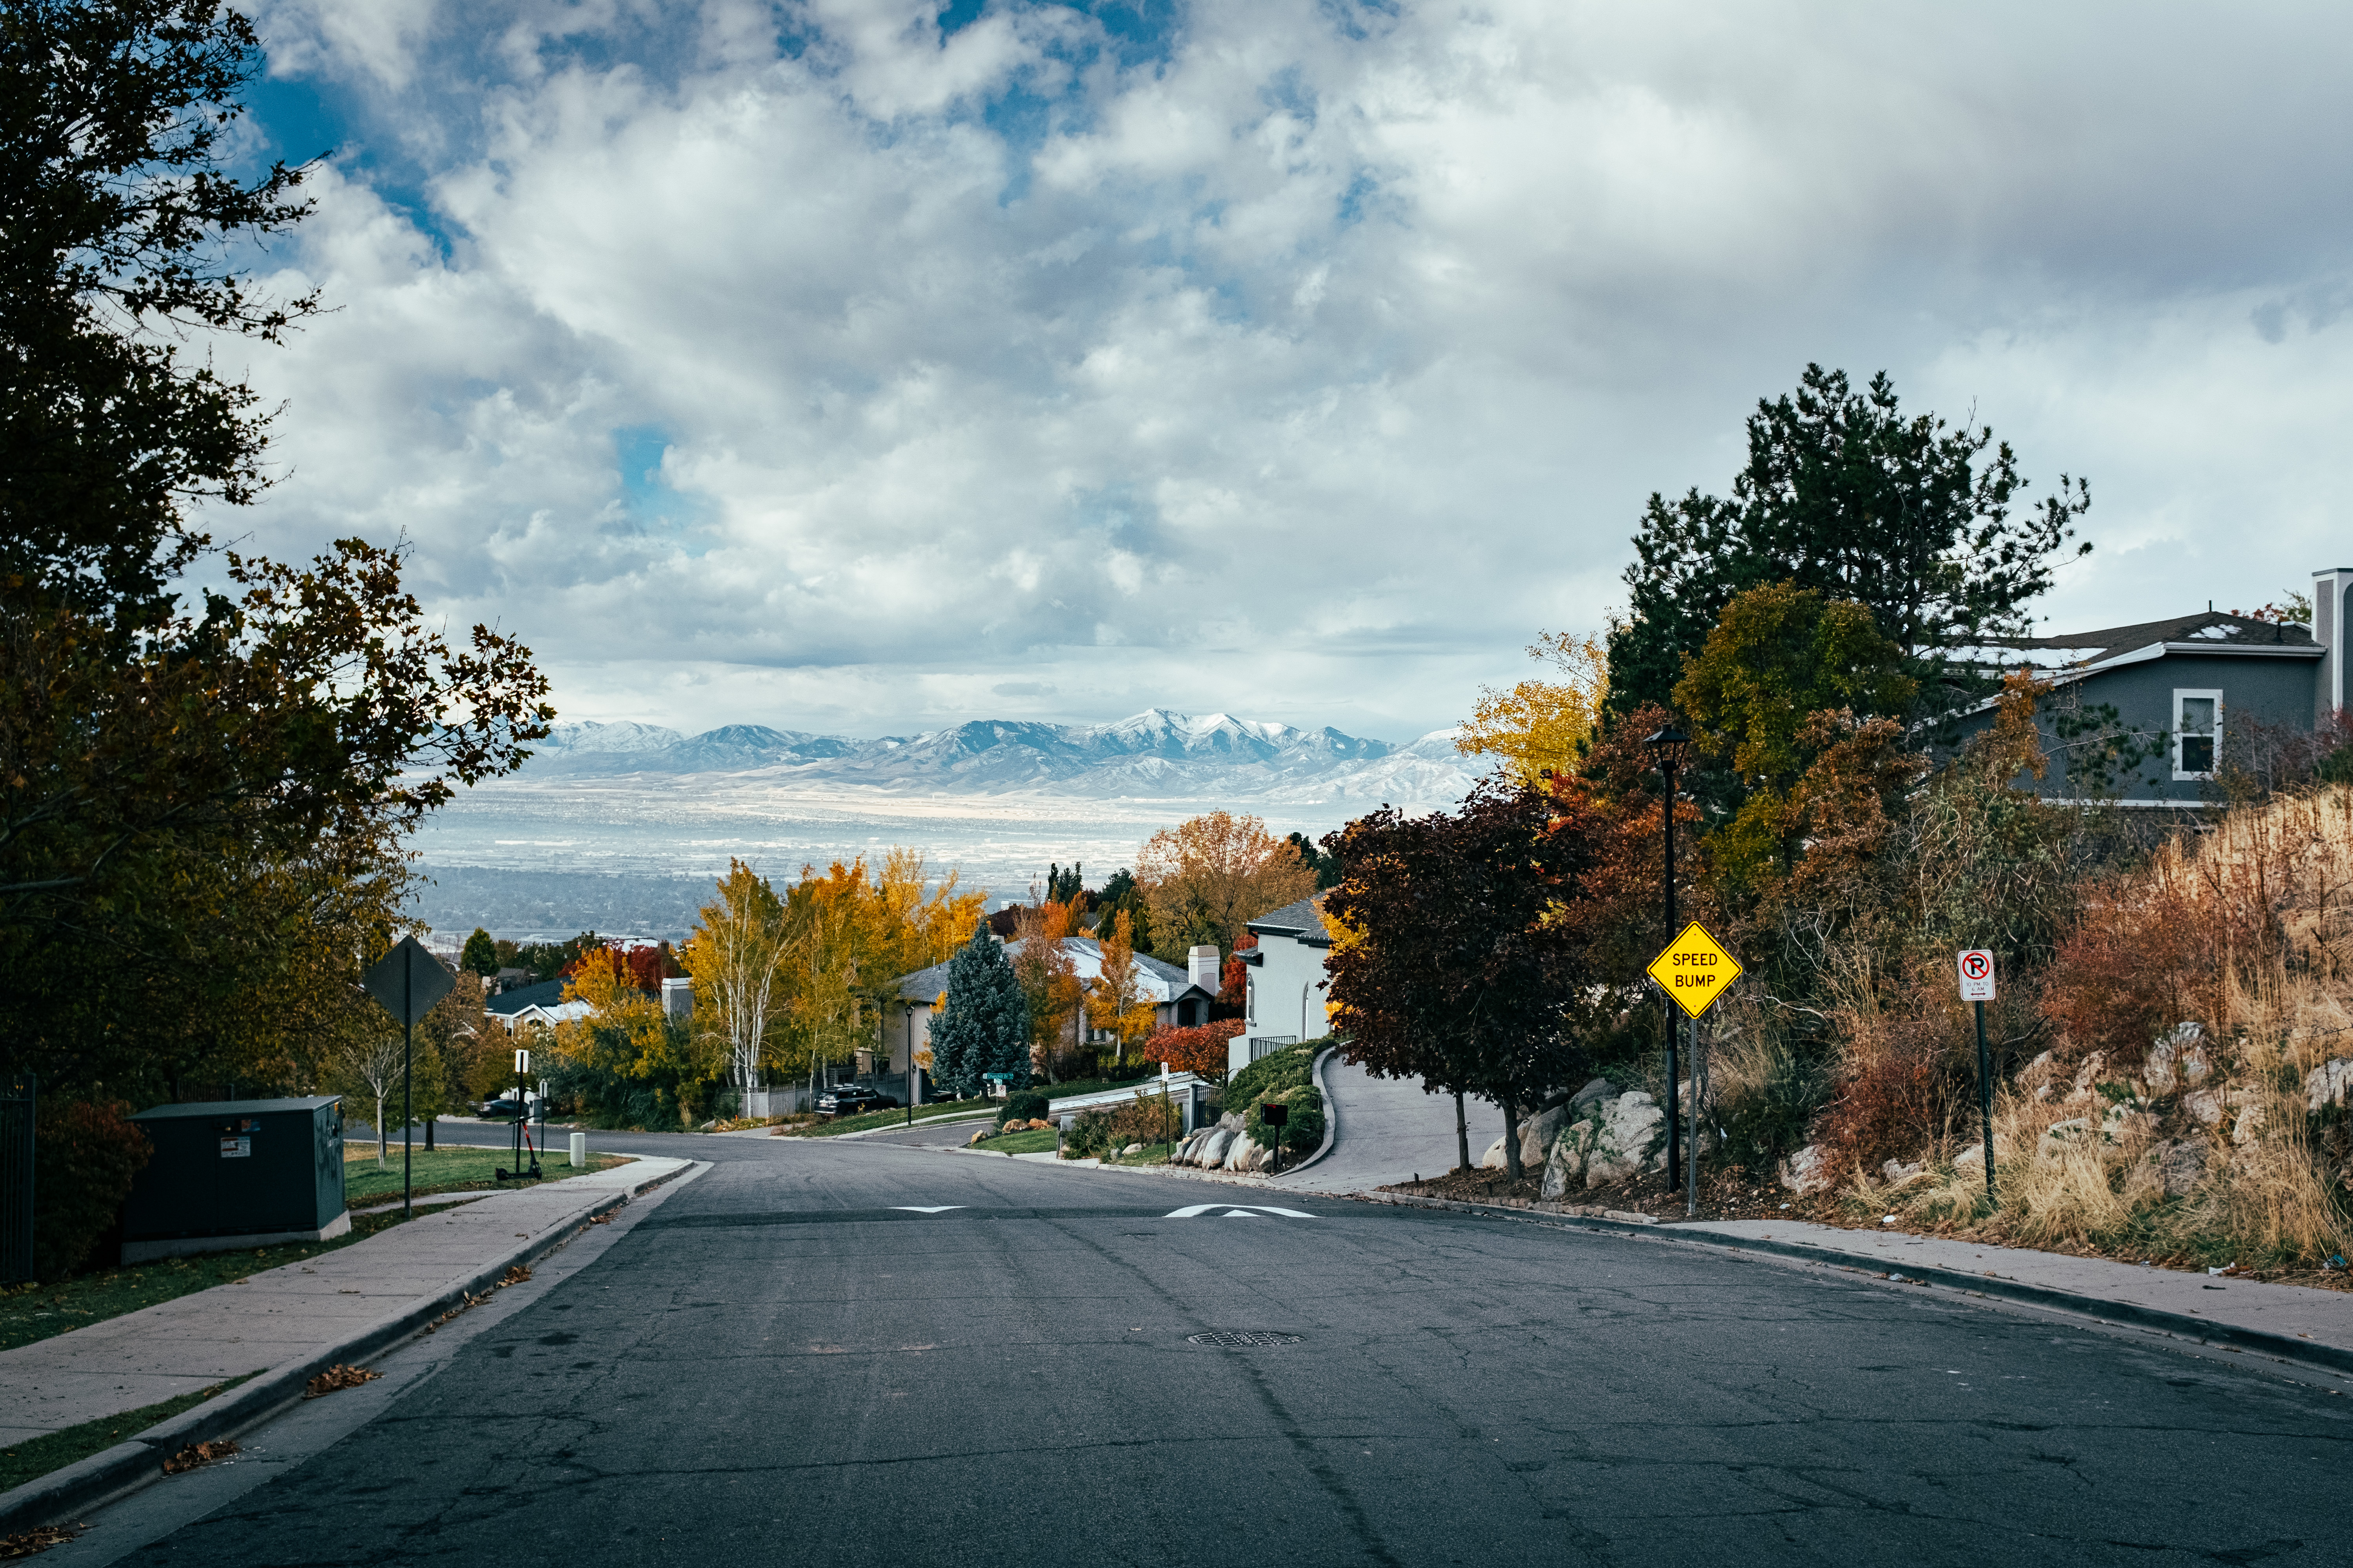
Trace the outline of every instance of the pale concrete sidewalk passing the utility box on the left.
{"label": "pale concrete sidewalk passing the utility box on the left", "polygon": [[689,1164],[638,1157],[546,1187],[494,1192],[332,1253],[0,1352],[0,1443],[308,1361]]}

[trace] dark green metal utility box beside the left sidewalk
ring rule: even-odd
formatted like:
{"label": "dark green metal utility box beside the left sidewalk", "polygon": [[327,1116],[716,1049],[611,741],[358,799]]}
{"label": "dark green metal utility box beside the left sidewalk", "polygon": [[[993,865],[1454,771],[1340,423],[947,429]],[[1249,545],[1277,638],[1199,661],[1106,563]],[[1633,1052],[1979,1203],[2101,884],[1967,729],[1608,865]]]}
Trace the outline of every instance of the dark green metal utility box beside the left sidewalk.
{"label": "dark green metal utility box beside the left sidewalk", "polygon": [[122,1262],[325,1241],[351,1229],[344,1211],[344,1105],[212,1100],[132,1117],[155,1157],[122,1208]]}

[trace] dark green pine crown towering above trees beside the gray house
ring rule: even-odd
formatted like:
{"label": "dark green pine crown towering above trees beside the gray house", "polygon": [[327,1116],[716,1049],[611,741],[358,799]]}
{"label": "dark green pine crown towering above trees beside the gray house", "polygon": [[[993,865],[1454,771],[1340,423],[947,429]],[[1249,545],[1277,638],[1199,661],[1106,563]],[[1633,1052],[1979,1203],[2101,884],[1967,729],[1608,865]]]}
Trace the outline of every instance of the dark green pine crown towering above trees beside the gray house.
{"label": "dark green pine crown towering above trees beside the gray house", "polygon": [[2092,548],[2068,550],[2092,498],[2066,475],[2031,505],[2026,489],[1991,425],[1904,416],[1885,374],[1854,390],[1809,364],[1748,418],[1729,501],[1649,498],[1628,616],[1609,632],[1607,705],[1666,703],[1734,595],[1765,583],[1868,607],[1915,675],[1934,675],[1946,649],[2028,632],[2057,562]]}

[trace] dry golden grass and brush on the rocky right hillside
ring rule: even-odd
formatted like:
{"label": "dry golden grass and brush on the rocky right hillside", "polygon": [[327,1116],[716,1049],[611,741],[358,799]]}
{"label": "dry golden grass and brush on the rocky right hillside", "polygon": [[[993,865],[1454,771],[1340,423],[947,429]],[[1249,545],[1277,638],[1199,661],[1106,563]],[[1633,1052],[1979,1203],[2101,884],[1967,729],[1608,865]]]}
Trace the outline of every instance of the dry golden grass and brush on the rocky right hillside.
{"label": "dry golden grass and brush on the rocky right hillside", "polygon": [[[1922,1161],[1920,1175],[1889,1185],[1849,1159],[1842,1197],[2028,1246],[2252,1267],[2353,1251],[2346,1110],[2311,1114],[2306,1100],[2313,1070],[2353,1058],[2348,943],[2353,790],[2240,809],[2167,844],[2106,886],[2061,947],[2045,1011],[2064,1034],[1998,1100],[2000,1208],[1986,1208],[1981,1161],[1955,1164],[1951,1119],[1911,1121],[1901,1159]],[[2202,1025],[2195,1084],[2148,1065],[2179,1020]],[[1847,1039],[1854,1077],[1892,1051],[1861,1006]],[[2068,1121],[2087,1128],[2049,1135]],[[2177,1197],[2165,1157],[2202,1157]]]}

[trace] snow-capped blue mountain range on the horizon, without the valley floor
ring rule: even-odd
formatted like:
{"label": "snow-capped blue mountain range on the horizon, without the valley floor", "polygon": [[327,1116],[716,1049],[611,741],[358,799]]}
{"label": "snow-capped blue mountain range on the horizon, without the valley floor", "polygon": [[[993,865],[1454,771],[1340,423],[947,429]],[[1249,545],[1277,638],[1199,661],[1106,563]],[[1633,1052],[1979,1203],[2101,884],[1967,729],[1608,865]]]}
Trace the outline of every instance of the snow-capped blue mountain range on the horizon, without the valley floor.
{"label": "snow-capped blue mountain range on the horizon, without the valley floor", "polygon": [[1148,708],[1118,724],[972,719],[918,736],[854,741],[765,724],[687,736],[659,724],[558,724],[522,778],[635,773],[758,776],[772,785],[880,788],[955,795],[1087,795],[1144,799],[1233,797],[1264,802],[1461,799],[1475,766],[1440,729],[1405,745],[1337,729],[1294,729]]}

